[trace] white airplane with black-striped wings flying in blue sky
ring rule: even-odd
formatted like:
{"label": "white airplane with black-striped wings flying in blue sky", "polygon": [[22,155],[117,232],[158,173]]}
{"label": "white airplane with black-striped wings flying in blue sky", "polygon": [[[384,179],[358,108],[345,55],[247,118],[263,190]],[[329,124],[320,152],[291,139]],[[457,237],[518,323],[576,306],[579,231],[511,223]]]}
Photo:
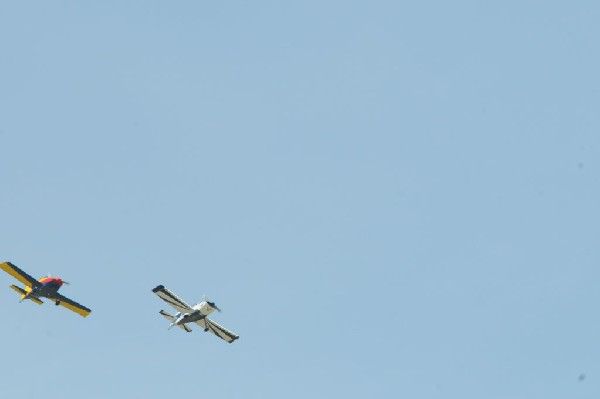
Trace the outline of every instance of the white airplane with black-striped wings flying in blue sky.
{"label": "white airplane with black-striped wings flying in blue sky", "polygon": [[152,292],[158,295],[160,299],[167,302],[177,311],[175,316],[170,315],[164,310],[158,312],[165,319],[171,322],[169,329],[171,329],[171,327],[173,326],[177,326],[187,332],[192,332],[192,329],[187,324],[196,323],[200,327],[202,327],[204,331],[210,331],[217,337],[229,343],[232,343],[233,341],[239,338],[238,335],[227,330],[225,327],[220,326],[214,321],[206,318],[206,316],[211,314],[214,310],[217,310],[218,312],[221,311],[221,309],[219,309],[214,302],[203,300],[202,302],[197,303],[194,306],[190,306],[177,295],[165,288],[163,285],[155,287],[154,289],[152,289]]}

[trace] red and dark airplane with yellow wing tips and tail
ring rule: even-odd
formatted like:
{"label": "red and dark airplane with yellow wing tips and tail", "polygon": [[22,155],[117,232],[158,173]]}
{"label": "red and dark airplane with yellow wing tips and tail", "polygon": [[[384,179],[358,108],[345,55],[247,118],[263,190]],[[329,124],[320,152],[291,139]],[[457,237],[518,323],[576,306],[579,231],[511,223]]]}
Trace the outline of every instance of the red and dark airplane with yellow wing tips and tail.
{"label": "red and dark airplane with yellow wing tips and tail", "polygon": [[36,280],[10,262],[0,263],[0,269],[25,284],[25,289],[17,287],[16,285],[10,286],[10,288],[21,294],[21,300],[19,302],[30,299],[38,305],[41,305],[44,302],[40,298],[48,298],[51,301],[54,301],[56,306],[61,305],[83,317],[89,316],[92,312],[85,306],[58,293],[58,290],[63,284],[69,284],[58,277],[46,276]]}

